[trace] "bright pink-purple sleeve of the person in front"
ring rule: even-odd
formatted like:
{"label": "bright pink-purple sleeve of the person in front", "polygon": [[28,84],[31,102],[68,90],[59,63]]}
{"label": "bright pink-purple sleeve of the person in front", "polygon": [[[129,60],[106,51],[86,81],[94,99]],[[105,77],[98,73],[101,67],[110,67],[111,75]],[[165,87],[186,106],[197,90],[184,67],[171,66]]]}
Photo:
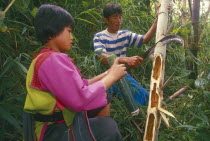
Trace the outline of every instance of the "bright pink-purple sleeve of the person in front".
{"label": "bright pink-purple sleeve of the person in front", "polygon": [[41,89],[54,94],[64,105],[76,112],[92,110],[107,104],[102,82],[88,85],[75,65],[64,53],[52,53],[40,66]]}

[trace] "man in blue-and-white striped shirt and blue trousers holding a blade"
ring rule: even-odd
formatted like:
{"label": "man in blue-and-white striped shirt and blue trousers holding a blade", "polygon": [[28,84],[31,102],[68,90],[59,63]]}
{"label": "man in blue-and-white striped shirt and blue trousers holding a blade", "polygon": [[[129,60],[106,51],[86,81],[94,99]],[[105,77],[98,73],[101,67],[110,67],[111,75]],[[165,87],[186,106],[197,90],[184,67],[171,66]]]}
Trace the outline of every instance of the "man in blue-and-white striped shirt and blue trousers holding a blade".
{"label": "man in blue-and-white striped shirt and blue trousers holding a blade", "polygon": [[[150,41],[156,32],[157,18],[145,35],[139,35],[131,31],[120,30],[122,9],[119,5],[108,3],[103,9],[103,16],[107,29],[96,33],[93,39],[97,58],[101,59],[103,64],[108,64],[107,57],[115,54],[119,58],[119,62],[126,64],[128,68],[140,66],[143,59],[139,56],[126,57],[126,49],[130,46],[140,48],[142,44]],[[130,85],[136,104],[147,105],[149,93],[131,75],[126,74],[126,80]],[[113,85],[108,92],[121,95],[116,85]]]}

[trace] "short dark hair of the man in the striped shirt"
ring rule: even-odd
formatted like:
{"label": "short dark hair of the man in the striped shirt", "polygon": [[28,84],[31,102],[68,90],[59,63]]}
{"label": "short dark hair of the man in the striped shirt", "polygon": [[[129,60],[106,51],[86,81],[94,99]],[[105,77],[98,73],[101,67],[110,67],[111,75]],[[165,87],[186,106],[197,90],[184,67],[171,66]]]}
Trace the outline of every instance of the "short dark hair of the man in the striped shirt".
{"label": "short dark hair of the man in the striped shirt", "polygon": [[103,9],[103,16],[104,16],[104,18],[109,18],[109,16],[111,16],[113,14],[122,15],[122,9],[116,3],[108,3]]}

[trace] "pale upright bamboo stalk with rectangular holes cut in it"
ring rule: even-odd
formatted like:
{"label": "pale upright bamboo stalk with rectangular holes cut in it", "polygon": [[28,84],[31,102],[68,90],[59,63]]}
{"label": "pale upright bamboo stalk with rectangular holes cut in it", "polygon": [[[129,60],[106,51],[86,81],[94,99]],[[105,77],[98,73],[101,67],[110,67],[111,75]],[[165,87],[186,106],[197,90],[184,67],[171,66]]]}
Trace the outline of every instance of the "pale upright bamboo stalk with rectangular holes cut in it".
{"label": "pale upright bamboo stalk with rectangular holes cut in it", "polygon": [[[167,32],[169,0],[162,0],[159,9],[156,42],[162,39]],[[161,90],[164,82],[166,45],[162,42],[156,44],[154,52],[153,69],[150,83],[150,98],[147,109],[147,121],[144,134],[144,141],[157,141],[158,130],[161,123],[161,108],[163,92]]]}

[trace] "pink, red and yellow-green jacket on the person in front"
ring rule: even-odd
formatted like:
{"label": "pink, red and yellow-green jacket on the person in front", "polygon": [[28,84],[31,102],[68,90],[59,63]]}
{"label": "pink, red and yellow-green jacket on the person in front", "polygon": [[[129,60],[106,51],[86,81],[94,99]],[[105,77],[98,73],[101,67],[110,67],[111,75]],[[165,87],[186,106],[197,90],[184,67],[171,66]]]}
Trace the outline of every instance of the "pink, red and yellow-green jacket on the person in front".
{"label": "pink, red and yellow-green jacket on the person in front", "polygon": [[[62,111],[67,126],[75,112],[104,107],[106,91],[101,81],[88,85],[73,61],[65,53],[43,49],[36,54],[26,78],[24,111],[51,115]],[[48,122],[35,122],[37,141],[42,141]]]}

